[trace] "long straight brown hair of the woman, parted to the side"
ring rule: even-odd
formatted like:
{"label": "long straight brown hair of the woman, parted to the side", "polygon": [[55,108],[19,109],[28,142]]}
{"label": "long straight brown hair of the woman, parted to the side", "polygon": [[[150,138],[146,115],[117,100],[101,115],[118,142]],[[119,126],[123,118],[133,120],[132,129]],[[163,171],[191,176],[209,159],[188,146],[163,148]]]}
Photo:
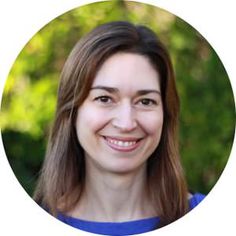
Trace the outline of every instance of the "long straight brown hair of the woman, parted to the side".
{"label": "long straight brown hair of the woman, parted to the side", "polygon": [[79,201],[85,160],[75,119],[101,65],[111,55],[130,52],[147,57],[160,74],[164,123],[160,144],[148,159],[150,196],[166,225],[188,211],[187,186],[178,152],[179,99],[168,51],[145,26],[117,21],[98,26],[80,39],[61,73],[57,109],[34,199],[56,215]]}

